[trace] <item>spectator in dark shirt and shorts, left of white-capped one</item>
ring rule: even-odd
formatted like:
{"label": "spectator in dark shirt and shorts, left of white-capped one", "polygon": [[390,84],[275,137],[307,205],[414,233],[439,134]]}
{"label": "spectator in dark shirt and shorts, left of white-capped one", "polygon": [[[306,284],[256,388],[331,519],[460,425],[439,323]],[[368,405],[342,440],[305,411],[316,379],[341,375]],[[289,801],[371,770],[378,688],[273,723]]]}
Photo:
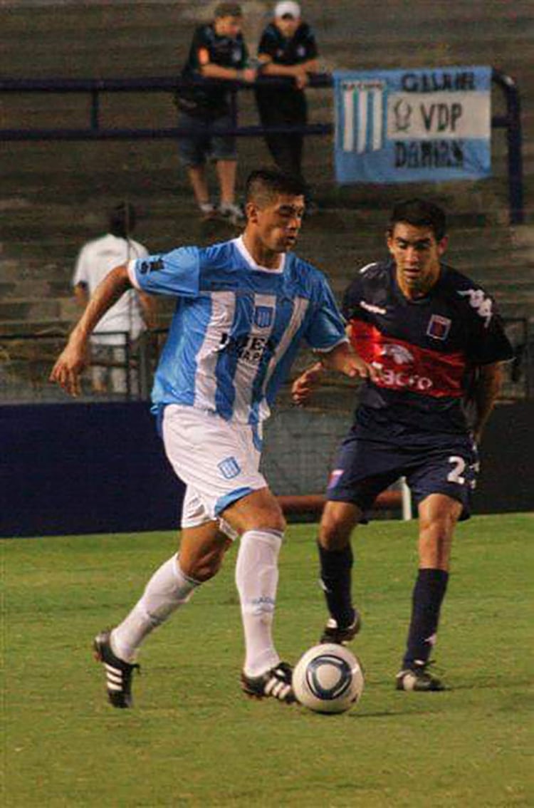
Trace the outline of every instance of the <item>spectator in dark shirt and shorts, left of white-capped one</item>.
{"label": "spectator in dark shirt and shorts, left of white-capped one", "polygon": [[[222,2],[215,9],[212,23],[196,28],[183,78],[218,78],[221,86],[195,86],[180,89],[176,103],[179,126],[191,133],[179,140],[179,153],[203,217],[219,213],[238,224],[241,208],[235,204],[237,153],[235,138],[210,134],[210,128],[232,125],[229,88],[224,82],[253,82],[254,69],[247,67],[248,52],[242,33],[242,10],[238,3]],[[216,163],[221,192],[218,211],[209,198],[206,158]]]}

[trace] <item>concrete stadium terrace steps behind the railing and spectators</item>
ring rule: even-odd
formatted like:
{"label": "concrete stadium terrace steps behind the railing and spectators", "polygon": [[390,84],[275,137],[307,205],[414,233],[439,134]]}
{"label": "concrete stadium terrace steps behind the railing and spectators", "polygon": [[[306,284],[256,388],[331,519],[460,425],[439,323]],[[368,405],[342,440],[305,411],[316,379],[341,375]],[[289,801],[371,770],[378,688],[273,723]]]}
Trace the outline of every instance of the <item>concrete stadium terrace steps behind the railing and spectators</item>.
{"label": "concrete stadium terrace steps behind the railing and spectators", "polygon": [[[125,13],[125,7],[128,6]],[[253,45],[265,23],[264,3],[246,4],[247,36]],[[515,76],[523,94],[525,199],[529,225],[508,227],[506,143],[493,137],[494,177],[483,183],[335,187],[331,142],[306,144],[305,173],[326,209],[305,221],[299,254],[326,269],[336,292],[355,268],[386,255],[384,230],[397,200],[416,190],[444,205],[451,243],[446,258],[517,314],[532,306],[534,288],[534,90],[532,31],[528,0],[449,0],[446,4],[389,0],[376,14],[375,0],[307,0],[305,13],[316,29],[326,68],[442,67],[492,61]],[[166,2],[0,3],[0,74],[24,77],[120,77],[177,75],[191,34],[212,4]],[[428,32],[431,31],[429,38]],[[31,65],[31,70],[29,68]],[[86,120],[87,97],[5,96],[3,123],[69,125]],[[494,112],[504,108],[498,88]],[[242,121],[256,120],[251,93],[242,94]],[[330,90],[309,92],[313,120],[331,120]],[[103,99],[111,125],[173,125],[168,95],[114,95]],[[267,161],[261,139],[239,144],[239,185],[250,166]],[[170,141],[10,143],[2,164],[3,250],[0,253],[0,323],[27,329],[68,327],[78,317],[70,288],[80,246],[103,232],[103,211],[120,198],[144,208],[137,238],[149,250],[181,243],[207,244],[230,238],[223,226],[203,227]],[[169,308],[167,308],[167,305]],[[168,317],[172,301],[162,303]],[[25,319],[27,318],[27,319]],[[62,327],[62,326],[61,326]]]}

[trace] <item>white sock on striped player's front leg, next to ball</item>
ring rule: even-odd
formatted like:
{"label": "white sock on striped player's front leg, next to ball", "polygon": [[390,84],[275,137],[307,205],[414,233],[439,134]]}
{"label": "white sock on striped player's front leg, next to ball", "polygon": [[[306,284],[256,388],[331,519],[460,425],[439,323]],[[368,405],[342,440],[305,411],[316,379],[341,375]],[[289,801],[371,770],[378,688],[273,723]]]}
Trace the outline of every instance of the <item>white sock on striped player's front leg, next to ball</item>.
{"label": "white sock on striped player's front leg, next to ball", "polygon": [[276,530],[247,530],[241,538],[235,579],[245,632],[247,676],[259,676],[280,662],[272,642],[272,621],[282,538]]}

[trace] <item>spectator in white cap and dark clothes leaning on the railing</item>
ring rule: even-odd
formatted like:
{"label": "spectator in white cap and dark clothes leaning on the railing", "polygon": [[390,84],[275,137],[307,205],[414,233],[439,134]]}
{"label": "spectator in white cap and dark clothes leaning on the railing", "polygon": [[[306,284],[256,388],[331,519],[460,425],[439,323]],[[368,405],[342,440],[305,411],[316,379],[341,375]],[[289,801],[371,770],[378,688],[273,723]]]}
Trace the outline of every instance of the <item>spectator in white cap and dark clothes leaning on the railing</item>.
{"label": "spectator in white cap and dark clothes leaning on the railing", "polygon": [[[261,76],[287,78],[287,86],[258,86],[256,101],[263,126],[305,124],[308,120],[304,88],[309,74],[317,71],[317,44],[308,23],[301,20],[297,2],[279,2],[275,15],[259,41]],[[265,137],[280,170],[302,179],[300,134],[268,134]]]}

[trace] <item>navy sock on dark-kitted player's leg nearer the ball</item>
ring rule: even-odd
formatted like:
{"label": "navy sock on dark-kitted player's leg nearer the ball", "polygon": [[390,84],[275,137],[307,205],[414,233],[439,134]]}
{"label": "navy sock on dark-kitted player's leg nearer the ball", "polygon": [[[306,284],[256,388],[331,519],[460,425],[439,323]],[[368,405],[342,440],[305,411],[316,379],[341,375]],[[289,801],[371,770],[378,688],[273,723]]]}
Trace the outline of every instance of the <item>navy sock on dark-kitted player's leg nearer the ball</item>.
{"label": "navy sock on dark-kitted player's leg nearer the ball", "polygon": [[338,627],[344,629],[351,625],[355,612],[351,598],[351,570],[352,548],[351,544],[342,550],[326,550],[318,542],[319,558],[321,560],[321,582],[326,597],[326,605],[331,617]]}

